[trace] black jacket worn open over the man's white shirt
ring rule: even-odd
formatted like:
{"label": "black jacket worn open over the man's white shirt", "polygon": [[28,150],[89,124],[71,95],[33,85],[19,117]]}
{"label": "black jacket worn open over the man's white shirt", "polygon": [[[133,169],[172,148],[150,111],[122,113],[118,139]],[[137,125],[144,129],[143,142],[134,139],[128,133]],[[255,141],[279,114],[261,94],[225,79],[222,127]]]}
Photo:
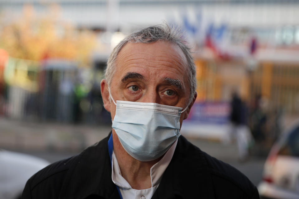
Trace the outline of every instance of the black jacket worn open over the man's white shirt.
{"label": "black jacket worn open over the man's white shirt", "polygon": [[[22,198],[119,199],[111,179],[109,136],[79,155],[40,170],[26,183]],[[173,158],[152,197],[158,198],[255,199],[259,193],[244,174],[180,136]]]}

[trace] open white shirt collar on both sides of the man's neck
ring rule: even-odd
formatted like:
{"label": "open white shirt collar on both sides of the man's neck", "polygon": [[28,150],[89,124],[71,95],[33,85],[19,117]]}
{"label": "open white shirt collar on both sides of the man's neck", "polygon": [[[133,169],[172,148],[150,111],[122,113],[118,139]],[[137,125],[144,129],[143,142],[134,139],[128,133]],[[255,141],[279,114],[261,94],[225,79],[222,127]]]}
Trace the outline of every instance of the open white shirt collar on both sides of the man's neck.
{"label": "open white shirt collar on both sides of the man's neck", "polygon": [[[177,143],[178,140],[176,140],[173,145],[167,150],[162,159],[150,168],[150,179],[152,187],[159,185],[162,175],[172,159]],[[119,187],[132,189],[131,185],[121,175],[121,169],[119,168],[119,164],[117,162],[114,151],[112,152],[112,181]]]}

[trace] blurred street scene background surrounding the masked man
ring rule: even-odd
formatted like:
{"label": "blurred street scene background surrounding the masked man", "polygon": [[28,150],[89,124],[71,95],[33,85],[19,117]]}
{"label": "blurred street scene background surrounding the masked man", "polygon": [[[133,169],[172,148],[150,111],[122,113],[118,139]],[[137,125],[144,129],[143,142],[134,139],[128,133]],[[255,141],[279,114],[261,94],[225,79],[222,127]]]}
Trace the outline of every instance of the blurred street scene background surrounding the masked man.
{"label": "blurred street scene background surrounding the masked man", "polygon": [[299,118],[297,0],[0,0],[0,148],[54,162],[106,137],[110,52],[164,22],[183,30],[197,67],[182,135],[258,185],[271,147]]}

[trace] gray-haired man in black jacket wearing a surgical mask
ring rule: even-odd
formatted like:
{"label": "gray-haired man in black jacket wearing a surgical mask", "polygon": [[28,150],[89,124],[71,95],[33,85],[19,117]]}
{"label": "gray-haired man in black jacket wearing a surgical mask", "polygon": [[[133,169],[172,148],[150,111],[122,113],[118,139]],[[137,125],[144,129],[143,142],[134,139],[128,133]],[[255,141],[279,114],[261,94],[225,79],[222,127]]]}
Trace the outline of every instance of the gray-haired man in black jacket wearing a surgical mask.
{"label": "gray-haired man in black jacket wearing a surgical mask", "polygon": [[238,170],[180,136],[197,96],[182,38],[150,26],[116,46],[101,82],[112,132],[32,176],[23,198],[259,198]]}

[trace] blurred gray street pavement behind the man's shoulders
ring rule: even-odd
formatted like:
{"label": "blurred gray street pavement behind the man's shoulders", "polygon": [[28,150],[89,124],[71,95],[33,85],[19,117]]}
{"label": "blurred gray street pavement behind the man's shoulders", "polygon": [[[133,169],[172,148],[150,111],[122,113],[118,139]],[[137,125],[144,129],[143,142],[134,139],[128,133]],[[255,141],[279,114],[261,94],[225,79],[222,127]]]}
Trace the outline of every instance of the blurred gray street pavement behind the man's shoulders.
{"label": "blurred gray street pavement behind the man's shoulders", "polygon": [[[35,155],[52,163],[78,154],[102,140],[110,131],[110,126],[32,123],[0,118],[0,148]],[[260,182],[265,157],[250,156],[241,163],[236,143],[225,145],[206,137],[187,139],[206,153],[239,169],[255,185]]]}

